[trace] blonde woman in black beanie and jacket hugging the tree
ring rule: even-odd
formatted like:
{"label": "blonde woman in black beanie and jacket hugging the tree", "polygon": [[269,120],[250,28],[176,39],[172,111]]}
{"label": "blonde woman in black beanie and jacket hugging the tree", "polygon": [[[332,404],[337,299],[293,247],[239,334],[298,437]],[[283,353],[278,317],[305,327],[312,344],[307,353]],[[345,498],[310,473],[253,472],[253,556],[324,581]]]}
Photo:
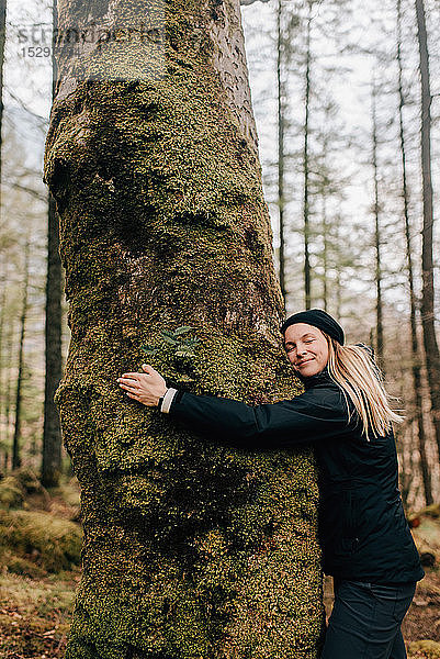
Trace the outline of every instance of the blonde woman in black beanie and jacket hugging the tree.
{"label": "blonde woman in black beanie and jacket hugging the tree", "polygon": [[400,623],[424,578],[397,487],[388,404],[372,355],[345,346],[325,311],[290,316],[281,327],[287,358],[305,391],[249,406],[167,388],[154,368],[124,373],[129,398],[248,448],[313,443],[319,466],[319,540],[335,604],[321,659],[404,659]]}

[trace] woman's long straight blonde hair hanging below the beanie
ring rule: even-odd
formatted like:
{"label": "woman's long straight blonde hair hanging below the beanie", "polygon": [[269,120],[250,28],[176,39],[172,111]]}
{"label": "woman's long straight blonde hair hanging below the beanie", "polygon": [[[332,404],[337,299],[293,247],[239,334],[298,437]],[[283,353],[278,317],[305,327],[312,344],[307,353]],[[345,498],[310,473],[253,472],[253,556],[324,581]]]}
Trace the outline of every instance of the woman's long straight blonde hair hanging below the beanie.
{"label": "woman's long straight blonde hair hanging below the beanie", "polygon": [[392,422],[402,423],[404,416],[396,414],[391,406],[382,373],[366,346],[345,345],[323,332],[328,343],[327,369],[329,376],[340,386],[346,398],[351,399],[363,425],[363,433],[370,440],[373,436],[383,437],[392,427]]}

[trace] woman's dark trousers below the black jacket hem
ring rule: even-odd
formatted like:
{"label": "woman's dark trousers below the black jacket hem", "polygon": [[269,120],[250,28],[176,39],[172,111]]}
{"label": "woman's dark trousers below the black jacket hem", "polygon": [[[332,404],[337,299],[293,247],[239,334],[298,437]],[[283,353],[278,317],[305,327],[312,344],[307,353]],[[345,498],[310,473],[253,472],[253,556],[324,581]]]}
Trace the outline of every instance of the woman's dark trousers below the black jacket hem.
{"label": "woman's dark trousers below the black jacket hem", "polygon": [[336,581],[321,659],[406,659],[400,624],[416,583]]}

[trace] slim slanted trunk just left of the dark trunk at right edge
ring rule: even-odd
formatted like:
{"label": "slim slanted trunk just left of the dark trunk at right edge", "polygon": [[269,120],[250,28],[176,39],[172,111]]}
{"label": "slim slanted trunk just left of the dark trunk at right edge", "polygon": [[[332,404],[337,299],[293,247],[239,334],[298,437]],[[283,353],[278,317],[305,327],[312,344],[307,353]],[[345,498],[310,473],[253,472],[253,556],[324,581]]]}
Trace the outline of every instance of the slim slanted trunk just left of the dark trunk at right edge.
{"label": "slim slanted trunk just left of the dark trunk at right edge", "polygon": [[426,453],[426,435],[424,425],[424,413],[421,406],[421,372],[420,372],[420,348],[417,337],[417,320],[416,320],[416,292],[414,289],[414,267],[413,267],[413,245],[411,245],[411,226],[409,221],[409,194],[406,176],[406,145],[403,107],[405,104],[403,91],[403,70],[402,70],[402,1],[397,0],[397,64],[398,64],[398,120],[399,120],[399,137],[400,137],[400,156],[402,156],[402,197],[404,200],[404,219],[405,219],[405,238],[406,238],[406,263],[409,284],[409,306],[410,306],[410,333],[411,333],[411,370],[414,382],[414,401],[415,401],[415,421],[418,436],[418,447],[420,454],[420,469],[424,479],[425,499],[427,505],[433,502],[431,473],[429,469],[428,457]]}

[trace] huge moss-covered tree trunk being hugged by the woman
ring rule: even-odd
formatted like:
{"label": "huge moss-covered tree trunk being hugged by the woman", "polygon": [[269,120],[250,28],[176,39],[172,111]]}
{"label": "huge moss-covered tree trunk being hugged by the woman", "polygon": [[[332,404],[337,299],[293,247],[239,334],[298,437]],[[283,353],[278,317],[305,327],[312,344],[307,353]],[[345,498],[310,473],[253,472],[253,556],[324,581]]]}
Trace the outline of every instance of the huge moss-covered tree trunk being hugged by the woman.
{"label": "huge moss-covered tree trunk being hugged by the woman", "polygon": [[[249,403],[295,393],[239,0],[97,1],[93,15],[65,0],[58,11],[60,38],[91,20],[156,21],[156,54],[140,30],[123,47],[89,43],[83,79],[78,56],[58,51],[45,171],[71,344],[57,401],[84,526],[66,657],[315,658],[311,454],[201,440],[116,383],[149,361],[195,392]],[[106,79],[109,63],[124,80]],[[88,79],[92,69],[101,79]],[[198,340],[193,357],[162,335],[183,325]],[[145,344],[159,350],[146,358]]]}

